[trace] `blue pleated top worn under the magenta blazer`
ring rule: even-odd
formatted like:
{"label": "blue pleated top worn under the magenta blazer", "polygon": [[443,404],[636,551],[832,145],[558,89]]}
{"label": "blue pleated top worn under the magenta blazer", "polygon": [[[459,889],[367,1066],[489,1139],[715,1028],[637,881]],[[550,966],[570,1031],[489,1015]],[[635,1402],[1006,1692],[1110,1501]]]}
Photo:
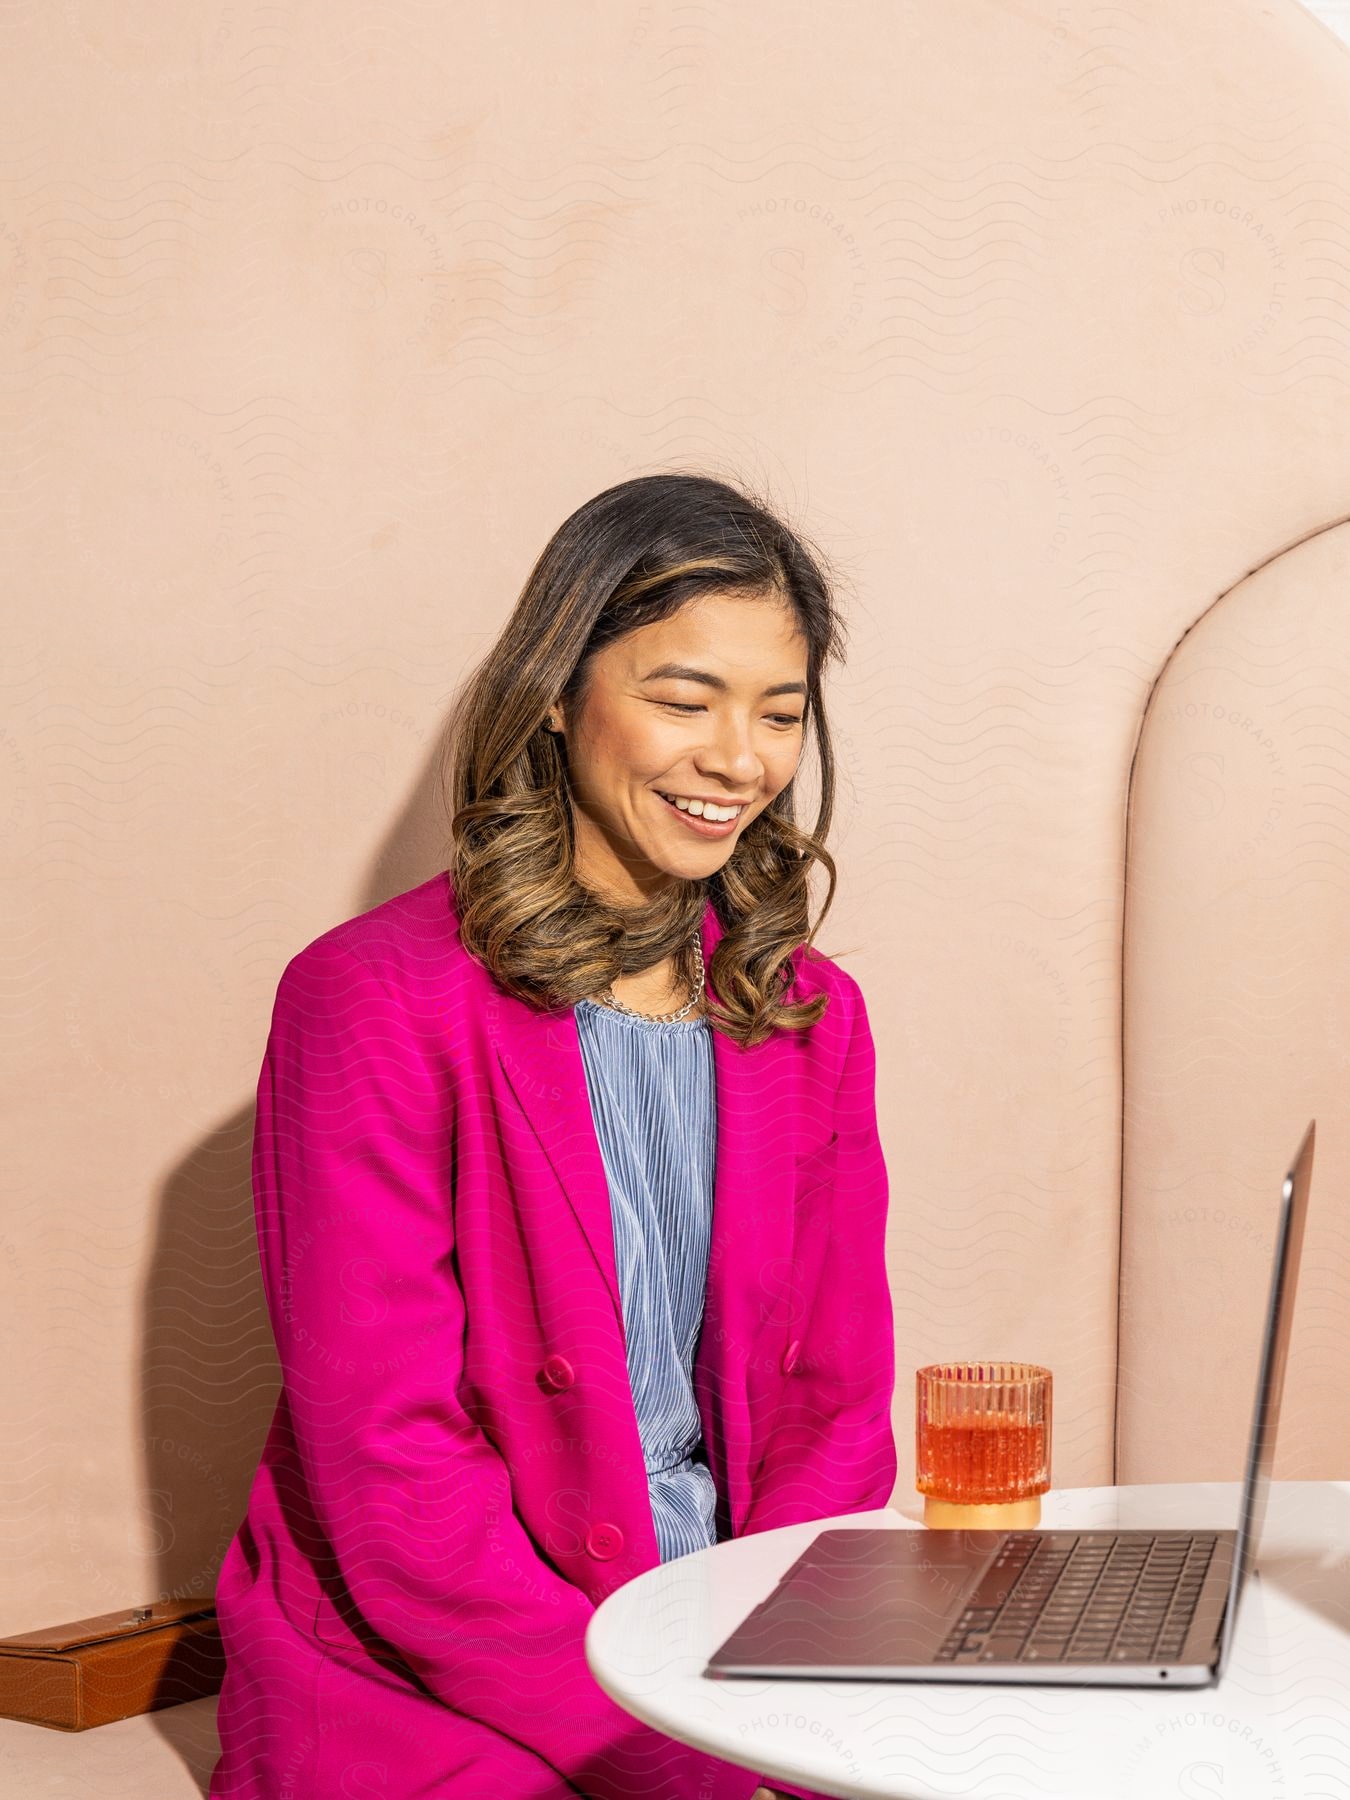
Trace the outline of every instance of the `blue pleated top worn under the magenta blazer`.
{"label": "blue pleated top worn under the magenta blazer", "polygon": [[653,1022],[576,1003],[605,1159],[628,1379],[661,1561],[716,1543],[716,1489],[693,1399],[716,1166],[707,1019]]}

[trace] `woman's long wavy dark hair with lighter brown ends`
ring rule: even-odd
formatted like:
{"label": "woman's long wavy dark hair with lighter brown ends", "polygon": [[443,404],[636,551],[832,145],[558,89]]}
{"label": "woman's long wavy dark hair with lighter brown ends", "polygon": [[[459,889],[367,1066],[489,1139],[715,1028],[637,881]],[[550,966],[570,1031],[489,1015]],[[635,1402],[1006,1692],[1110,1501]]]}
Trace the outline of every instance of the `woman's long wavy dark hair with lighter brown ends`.
{"label": "woman's long wavy dark hair with lighter brown ends", "polygon": [[[826,569],[824,554],[767,504],[700,473],[623,481],[558,527],[466,677],[445,742],[459,936],[508,994],[567,1008],[666,956],[693,985],[693,938],[711,900],[724,936],[707,970],[709,1024],[742,1044],[815,1024],[828,995],[796,1004],[785,995],[796,952],[819,954],[812,940],[835,893],[824,846],[835,758],[821,673],[842,659],[844,626]],[[781,599],[796,614],[808,648],[805,743],[819,763],[819,810],[810,830],[797,824],[799,763],[720,869],[675,880],[641,907],[614,905],[574,873],[567,751],[547,711],[562,700],[576,716],[607,644],[713,592]],[[828,891],[812,923],[815,862]]]}

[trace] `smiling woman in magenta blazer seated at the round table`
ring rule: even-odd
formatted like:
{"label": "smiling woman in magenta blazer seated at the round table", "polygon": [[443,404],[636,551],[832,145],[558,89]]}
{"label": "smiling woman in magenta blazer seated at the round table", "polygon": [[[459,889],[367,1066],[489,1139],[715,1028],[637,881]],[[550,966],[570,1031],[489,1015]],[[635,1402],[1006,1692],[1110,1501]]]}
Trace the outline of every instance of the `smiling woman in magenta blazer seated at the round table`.
{"label": "smiling woman in magenta blazer seated at the round table", "polygon": [[873,1044],[808,920],[839,639],[765,506],[607,490],[457,709],[452,868],[286,965],[254,1136],[283,1390],[211,1800],[812,1793],[637,1723],[583,1636],[661,1561],[895,1483]]}

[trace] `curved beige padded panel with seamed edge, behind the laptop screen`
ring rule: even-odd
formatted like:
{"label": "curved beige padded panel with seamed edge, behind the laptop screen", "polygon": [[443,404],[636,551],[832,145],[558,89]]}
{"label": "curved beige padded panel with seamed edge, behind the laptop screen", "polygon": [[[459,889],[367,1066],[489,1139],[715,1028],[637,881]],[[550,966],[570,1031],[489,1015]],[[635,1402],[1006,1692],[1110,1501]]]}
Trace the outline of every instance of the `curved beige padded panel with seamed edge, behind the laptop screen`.
{"label": "curved beige padded panel with seamed edge, behind the laptop screen", "polygon": [[1215,601],[1130,803],[1120,1480],[1235,1481],[1280,1183],[1318,1152],[1276,1480],[1339,1478],[1350,1345],[1350,526]]}

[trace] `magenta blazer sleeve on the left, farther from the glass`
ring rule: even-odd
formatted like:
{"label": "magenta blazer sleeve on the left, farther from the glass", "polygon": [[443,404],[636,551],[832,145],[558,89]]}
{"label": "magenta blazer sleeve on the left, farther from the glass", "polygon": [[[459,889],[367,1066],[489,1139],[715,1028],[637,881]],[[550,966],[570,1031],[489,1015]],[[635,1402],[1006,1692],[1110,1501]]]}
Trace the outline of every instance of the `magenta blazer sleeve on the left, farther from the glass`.
{"label": "magenta blazer sleeve on the left, farther from the glass", "polygon": [[286,965],[252,1174],[320,1548],[437,1699],[581,1795],[749,1800],[749,1769],[641,1724],[596,1683],[583,1652],[594,1606],[536,1552],[506,1462],[457,1399],[454,1103],[405,1006],[358,956],[319,938]]}

